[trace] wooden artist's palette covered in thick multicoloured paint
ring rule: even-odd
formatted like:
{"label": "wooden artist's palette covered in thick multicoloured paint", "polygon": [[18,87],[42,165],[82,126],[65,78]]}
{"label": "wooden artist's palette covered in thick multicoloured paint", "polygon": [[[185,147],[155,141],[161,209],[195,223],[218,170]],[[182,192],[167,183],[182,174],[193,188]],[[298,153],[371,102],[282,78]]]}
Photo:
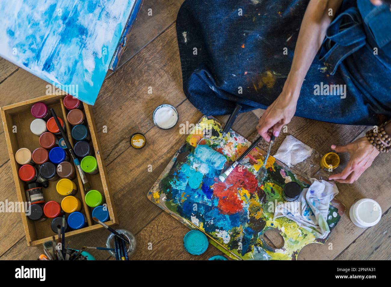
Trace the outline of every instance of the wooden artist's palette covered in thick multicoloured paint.
{"label": "wooden artist's palette covered in thick multicoloured paint", "polygon": [[[294,181],[301,188],[310,185],[309,180],[295,175],[283,163],[269,157],[267,178],[258,187],[256,175],[263,163],[265,152],[253,149],[237,166],[226,182],[220,182],[222,171],[199,162],[194,157],[197,143],[207,132],[212,139],[221,136],[221,123],[204,116],[197,123],[186,143],[178,150],[169,165],[147,194],[149,200],[191,229],[204,232],[209,242],[233,259],[291,260],[310,243],[324,243],[307,230],[286,217],[273,220],[274,209],[283,202],[285,183]],[[223,154],[228,167],[251,143],[233,130],[221,142],[203,140]],[[333,200],[330,203],[328,225],[334,229],[345,210],[344,205]],[[277,231],[282,236],[282,246],[270,243],[265,232]]]}

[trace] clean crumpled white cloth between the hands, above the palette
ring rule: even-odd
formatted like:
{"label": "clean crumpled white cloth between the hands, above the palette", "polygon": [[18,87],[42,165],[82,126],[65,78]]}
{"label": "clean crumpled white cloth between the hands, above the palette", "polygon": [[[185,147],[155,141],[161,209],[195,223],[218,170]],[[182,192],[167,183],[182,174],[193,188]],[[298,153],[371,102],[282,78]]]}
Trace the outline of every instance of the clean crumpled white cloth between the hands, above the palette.
{"label": "clean crumpled white cloth between the hands, above the palette", "polygon": [[273,157],[291,167],[306,160],[313,151],[293,135],[287,135]]}

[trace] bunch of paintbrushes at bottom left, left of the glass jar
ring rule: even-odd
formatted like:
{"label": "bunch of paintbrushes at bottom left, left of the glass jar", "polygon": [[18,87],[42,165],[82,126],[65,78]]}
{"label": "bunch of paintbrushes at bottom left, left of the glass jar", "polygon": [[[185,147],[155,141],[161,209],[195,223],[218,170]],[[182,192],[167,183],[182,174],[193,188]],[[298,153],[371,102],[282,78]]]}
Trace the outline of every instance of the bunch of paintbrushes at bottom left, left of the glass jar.
{"label": "bunch of paintbrushes at bottom left, left of the glass jar", "polygon": [[87,257],[81,253],[84,251],[84,247],[81,250],[74,250],[68,246],[65,248],[65,215],[61,225],[57,225],[58,242],[55,237],[52,237],[51,241],[43,243],[43,251],[45,254],[39,255],[39,260],[87,260]]}

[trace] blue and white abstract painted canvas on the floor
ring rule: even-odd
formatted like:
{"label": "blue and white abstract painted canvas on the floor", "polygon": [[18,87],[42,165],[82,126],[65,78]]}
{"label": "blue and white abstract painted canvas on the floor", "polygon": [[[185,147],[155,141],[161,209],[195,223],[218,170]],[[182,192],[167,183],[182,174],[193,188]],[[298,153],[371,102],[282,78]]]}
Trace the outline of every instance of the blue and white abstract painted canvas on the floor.
{"label": "blue and white abstract painted canvas on the floor", "polygon": [[1,0],[0,56],[95,103],[135,0]]}

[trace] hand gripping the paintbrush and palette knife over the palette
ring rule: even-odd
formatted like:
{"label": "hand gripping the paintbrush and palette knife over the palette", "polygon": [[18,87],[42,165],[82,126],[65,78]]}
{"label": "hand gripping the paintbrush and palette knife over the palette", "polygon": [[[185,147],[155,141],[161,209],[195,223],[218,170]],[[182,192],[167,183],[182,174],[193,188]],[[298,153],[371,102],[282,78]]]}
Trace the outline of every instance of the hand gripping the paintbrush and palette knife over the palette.
{"label": "hand gripping the paintbrush and palette knife over the palette", "polygon": [[270,134],[268,131],[273,129],[273,135],[278,137],[281,128],[287,125],[296,112],[297,100],[290,96],[286,96],[285,93],[281,93],[276,100],[267,107],[266,111],[260,118],[256,130],[265,141],[270,141]]}

